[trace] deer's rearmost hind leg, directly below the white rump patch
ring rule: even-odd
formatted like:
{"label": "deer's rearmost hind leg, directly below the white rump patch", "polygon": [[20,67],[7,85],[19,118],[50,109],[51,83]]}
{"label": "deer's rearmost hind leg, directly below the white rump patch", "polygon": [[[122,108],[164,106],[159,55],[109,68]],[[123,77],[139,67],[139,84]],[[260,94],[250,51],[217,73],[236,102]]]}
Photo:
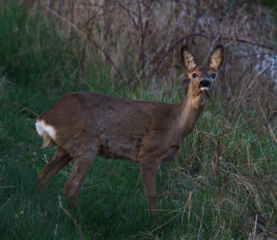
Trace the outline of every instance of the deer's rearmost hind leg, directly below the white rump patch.
{"label": "deer's rearmost hind leg, directly below the white rump patch", "polygon": [[37,189],[42,190],[55,174],[57,174],[66,164],[72,160],[72,157],[62,148],[59,148],[53,159],[44,166],[37,178]]}

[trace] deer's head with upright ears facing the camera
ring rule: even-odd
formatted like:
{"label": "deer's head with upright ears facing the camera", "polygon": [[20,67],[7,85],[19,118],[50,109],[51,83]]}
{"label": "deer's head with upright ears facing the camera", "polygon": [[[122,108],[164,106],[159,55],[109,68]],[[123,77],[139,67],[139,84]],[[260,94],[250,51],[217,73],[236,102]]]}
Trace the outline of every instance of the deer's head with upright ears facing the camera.
{"label": "deer's head with upright ears facing the camera", "polygon": [[190,95],[195,108],[203,108],[215,92],[215,78],[224,59],[222,45],[217,45],[206,65],[198,66],[187,46],[181,48],[181,60],[190,78]]}

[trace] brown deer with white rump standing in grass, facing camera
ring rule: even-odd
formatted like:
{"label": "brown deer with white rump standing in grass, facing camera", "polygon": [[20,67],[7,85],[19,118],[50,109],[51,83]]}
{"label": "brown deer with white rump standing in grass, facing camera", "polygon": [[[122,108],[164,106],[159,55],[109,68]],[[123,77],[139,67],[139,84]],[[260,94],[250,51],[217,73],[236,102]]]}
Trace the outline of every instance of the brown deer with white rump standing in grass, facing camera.
{"label": "brown deer with white rump standing in grass, facing camera", "polygon": [[199,67],[187,46],[181,61],[188,72],[188,94],[177,104],[136,101],[96,92],[69,92],[37,118],[37,132],[44,146],[58,148],[38,175],[44,189],[53,176],[73,158],[75,163],[63,193],[69,205],[78,194],[94,158],[129,159],[139,163],[151,216],[156,209],[155,171],[158,164],[175,160],[184,138],[193,130],[214,92],[223,62],[218,45],[207,65]]}

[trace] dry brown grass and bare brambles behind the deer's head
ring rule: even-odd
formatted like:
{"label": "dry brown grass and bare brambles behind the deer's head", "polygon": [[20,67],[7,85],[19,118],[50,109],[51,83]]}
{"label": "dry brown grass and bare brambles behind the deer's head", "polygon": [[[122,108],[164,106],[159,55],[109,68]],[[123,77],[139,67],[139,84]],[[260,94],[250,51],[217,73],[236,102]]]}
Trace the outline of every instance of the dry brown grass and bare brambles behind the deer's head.
{"label": "dry brown grass and bare brambles behind the deer's head", "polygon": [[[229,96],[238,89],[238,75],[251,74],[264,53],[276,49],[274,12],[258,4],[233,1],[37,1],[39,8],[51,9],[53,31],[64,37],[76,37],[80,64],[84,50],[90,57],[107,59],[107,55],[120,69],[128,83],[139,77],[150,84],[175,76],[179,69],[179,49],[188,44],[202,60],[221,43],[228,55],[222,72],[228,80]],[[255,9],[255,10],[254,10]],[[87,38],[78,35],[70,25],[77,26]],[[211,46],[212,45],[212,46]],[[176,51],[176,52],[175,52]],[[107,55],[106,55],[107,54]],[[258,55],[260,54],[260,55]],[[86,56],[87,56],[86,55]],[[107,67],[109,69],[111,67]],[[235,69],[235,71],[234,71]],[[114,71],[111,70],[111,71]],[[246,79],[240,83],[246,83]],[[184,78],[181,78],[184,80]],[[224,77],[222,81],[224,81]],[[225,83],[226,85],[226,83]],[[235,86],[233,86],[235,85]],[[233,86],[233,87],[232,87]],[[231,95],[230,95],[231,96]]]}

